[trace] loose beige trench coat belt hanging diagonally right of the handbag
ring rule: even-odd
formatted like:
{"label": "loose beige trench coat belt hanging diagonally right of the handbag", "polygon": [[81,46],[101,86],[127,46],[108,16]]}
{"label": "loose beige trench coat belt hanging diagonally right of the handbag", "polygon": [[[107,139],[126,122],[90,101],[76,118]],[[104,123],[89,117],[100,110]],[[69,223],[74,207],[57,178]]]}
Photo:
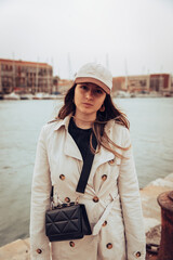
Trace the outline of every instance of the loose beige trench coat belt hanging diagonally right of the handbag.
{"label": "loose beige trench coat belt hanging diagonally right of the handbag", "polygon": [[[111,195],[111,193],[110,193],[110,195]],[[118,195],[118,194],[117,194],[117,195]],[[112,200],[111,200],[111,203],[109,203],[109,204],[107,205],[107,207],[106,207],[105,211],[103,212],[101,219],[99,219],[98,222],[94,225],[92,235],[97,235],[97,234],[99,233],[103,223],[105,222],[107,216],[109,214],[109,212],[110,212],[110,210],[111,210],[111,208],[112,208],[112,206],[114,206],[114,203],[115,203],[115,199],[117,198],[117,195],[116,195],[116,196],[115,196],[115,195],[114,195],[114,196],[111,195]]]}

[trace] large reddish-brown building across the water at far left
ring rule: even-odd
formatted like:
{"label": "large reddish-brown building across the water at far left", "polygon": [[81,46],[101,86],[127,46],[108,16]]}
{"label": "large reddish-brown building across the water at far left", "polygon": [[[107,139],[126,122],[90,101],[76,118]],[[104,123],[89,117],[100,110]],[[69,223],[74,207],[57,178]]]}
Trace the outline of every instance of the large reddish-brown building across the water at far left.
{"label": "large reddish-brown building across the water at far left", "polygon": [[51,65],[0,58],[0,93],[52,93],[52,87]]}

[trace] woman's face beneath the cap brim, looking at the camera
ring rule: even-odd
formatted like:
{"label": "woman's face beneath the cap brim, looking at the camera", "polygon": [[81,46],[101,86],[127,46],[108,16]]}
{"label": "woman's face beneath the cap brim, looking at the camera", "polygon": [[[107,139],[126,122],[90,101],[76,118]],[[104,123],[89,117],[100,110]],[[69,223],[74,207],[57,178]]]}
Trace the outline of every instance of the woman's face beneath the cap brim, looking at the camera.
{"label": "woman's face beneath the cap brim, looking at the camera", "polygon": [[96,117],[97,110],[104,104],[105,91],[94,83],[77,84],[75,89],[76,114]]}

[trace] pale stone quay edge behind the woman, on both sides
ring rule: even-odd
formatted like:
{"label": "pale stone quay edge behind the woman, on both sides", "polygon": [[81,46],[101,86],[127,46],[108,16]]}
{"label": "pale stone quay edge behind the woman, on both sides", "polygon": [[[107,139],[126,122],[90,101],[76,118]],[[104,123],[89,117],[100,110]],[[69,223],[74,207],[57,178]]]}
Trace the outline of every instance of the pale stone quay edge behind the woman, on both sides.
{"label": "pale stone quay edge behind the woman, on both sides", "polygon": [[[151,181],[139,191],[147,244],[160,245],[161,208],[157,200],[161,193],[168,191],[173,191],[173,173]],[[0,260],[30,260],[29,250],[29,237],[17,239],[0,248]],[[146,260],[157,260],[157,256],[147,252]]]}

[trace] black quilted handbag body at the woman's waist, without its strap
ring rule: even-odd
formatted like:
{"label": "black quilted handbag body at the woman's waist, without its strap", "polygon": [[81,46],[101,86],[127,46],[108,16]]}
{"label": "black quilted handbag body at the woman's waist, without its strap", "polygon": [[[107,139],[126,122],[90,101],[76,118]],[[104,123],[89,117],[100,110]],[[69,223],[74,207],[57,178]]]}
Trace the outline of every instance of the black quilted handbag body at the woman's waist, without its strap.
{"label": "black quilted handbag body at the woman's waist, without its strap", "polygon": [[91,235],[83,204],[63,204],[45,213],[45,234],[50,242],[70,240]]}

